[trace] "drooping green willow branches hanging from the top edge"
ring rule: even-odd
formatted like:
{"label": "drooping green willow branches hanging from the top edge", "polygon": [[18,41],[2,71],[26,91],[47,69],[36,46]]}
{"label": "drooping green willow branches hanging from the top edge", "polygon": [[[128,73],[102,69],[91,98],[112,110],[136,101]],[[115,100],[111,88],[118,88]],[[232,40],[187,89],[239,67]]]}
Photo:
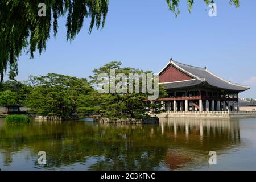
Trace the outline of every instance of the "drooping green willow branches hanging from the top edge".
{"label": "drooping green willow branches hanging from the top edge", "polygon": [[[177,14],[179,0],[166,0],[169,9]],[[213,0],[204,0],[209,5]],[[46,17],[38,16],[39,3],[46,4]],[[187,0],[191,12],[194,1]],[[239,7],[239,0],[230,0],[231,5]],[[58,19],[66,17],[67,40],[73,40],[84,25],[84,18],[90,18],[89,33],[94,26],[103,28],[108,13],[109,0],[1,0],[0,1],[0,76],[8,68],[15,67],[24,49],[30,53],[39,54],[46,49],[53,27],[56,38]]]}

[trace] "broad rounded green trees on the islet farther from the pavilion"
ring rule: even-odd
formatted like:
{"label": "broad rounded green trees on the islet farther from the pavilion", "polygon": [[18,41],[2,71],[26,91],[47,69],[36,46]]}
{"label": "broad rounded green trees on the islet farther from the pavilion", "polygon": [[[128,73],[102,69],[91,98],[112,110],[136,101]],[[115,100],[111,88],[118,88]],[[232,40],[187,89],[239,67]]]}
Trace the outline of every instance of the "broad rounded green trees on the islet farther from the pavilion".
{"label": "broad rounded green trees on the islet farther from the pavilion", "polygon": [[80,97],[93,92],[85,78],[48,73],[35,79],[38,86],[28,94],[26,106],[40,115],[72,117]]}

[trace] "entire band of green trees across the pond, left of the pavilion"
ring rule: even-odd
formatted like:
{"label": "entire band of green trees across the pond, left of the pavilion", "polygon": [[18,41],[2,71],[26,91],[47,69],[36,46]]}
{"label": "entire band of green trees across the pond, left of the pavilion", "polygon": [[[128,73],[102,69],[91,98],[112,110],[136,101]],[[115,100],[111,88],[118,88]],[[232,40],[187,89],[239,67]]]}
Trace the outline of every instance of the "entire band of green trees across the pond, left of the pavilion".
{"label": "entire band of green trees across the pond, left of the pavilion", "polygon": [[[92,113],[100,113],[110,118],[146,118],[149,108],[159,109],[162,105],[151,105],[147,94],[100,94],[91,84],[98,84],[98,75],[110,73],[115,68],[115,74],[137,73],[151,74],[151,71],[121,67],[120,62],[112,61],[94,69],[90,82],[85,78],[48,73],[46,76],[29,76],[25,82],[6,81],[0,88],[1,105],[25,105],[32,110],[30,113],[49,116],[85,117]],[[117,84],[118,81],[116,81]],[[130,84],[130,82],[129,82]],[[139,82],[142,88],[141,81]],[[133,82],[133,88],[135,82]],[[166,96],[166,91],[159,86],[160,97]],[[162,96],[161,96],[162,95]]]}

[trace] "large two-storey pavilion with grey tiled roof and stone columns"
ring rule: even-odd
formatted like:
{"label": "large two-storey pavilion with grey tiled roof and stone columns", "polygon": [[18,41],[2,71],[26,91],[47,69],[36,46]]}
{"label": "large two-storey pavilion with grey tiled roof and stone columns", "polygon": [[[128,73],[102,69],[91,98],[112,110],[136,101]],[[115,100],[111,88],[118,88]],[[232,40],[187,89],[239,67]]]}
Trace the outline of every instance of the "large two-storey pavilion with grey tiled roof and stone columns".
{"label": "large two-storey pavilion with grey tiled roof and stone columns", "polygon": [[167,89],[168,96],[151,102],[161,102],[162,109],[167,111],[239,111],[238,94],[250,89],[226,81],[206,67],[193,67],[172,59],[158,75],[159,84]]}

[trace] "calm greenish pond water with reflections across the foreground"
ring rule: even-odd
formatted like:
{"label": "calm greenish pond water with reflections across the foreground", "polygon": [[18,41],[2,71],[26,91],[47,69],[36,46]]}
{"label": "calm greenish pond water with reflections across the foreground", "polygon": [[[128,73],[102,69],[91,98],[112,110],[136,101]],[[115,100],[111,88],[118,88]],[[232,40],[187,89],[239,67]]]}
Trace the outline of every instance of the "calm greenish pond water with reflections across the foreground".
{"label": "calm greenish pond water with reflections across the foreground", "polygon": [[[46,151],[46,166],[38,152]],[[209,151],[217,165],[209,166]],[[0,120],[2,170],[256,170],[256,118],[161,119],[154,125]]]}

